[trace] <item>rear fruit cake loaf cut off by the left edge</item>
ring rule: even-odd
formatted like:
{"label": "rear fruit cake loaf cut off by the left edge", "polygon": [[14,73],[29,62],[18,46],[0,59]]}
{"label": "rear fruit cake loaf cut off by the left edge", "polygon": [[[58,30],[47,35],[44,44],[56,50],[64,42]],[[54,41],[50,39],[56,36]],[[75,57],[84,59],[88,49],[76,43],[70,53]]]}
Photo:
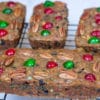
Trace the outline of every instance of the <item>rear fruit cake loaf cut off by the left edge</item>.
{"label": "rear fruit cake loaf cut off by the left edge", "polygon": [[0,2],[0,50],[18,44],[25,19],[25,6],[18,2]]}

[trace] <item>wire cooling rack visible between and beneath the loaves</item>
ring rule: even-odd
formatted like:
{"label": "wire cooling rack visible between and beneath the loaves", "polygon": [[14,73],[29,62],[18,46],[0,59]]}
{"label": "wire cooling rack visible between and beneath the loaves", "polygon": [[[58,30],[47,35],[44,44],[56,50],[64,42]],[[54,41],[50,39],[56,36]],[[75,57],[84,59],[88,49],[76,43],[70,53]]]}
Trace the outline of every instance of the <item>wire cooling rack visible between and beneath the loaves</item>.
{"label": "wire cooling rack visible between and beneath the loaves", "polygon": [[[28,30],[28,26],[29,24],[28,23],[25,23],[24,24],[24,28],[23,28],[23,32],[22,32],[22,35],[21,35],[21,39],[19,41],[19,45],[17,46],[17,48],[31,48],[30,44],[29,44],[29,41],[27,39],[27,30]],[[65,44],[65,49],[75,49],[76,46],[75,46],[75,32],[76,32],[76,29],[77,29],[77,24],[69,24],[68,25],[68,36],[67,36],[67,39],[66,39],[66,44]],[[8,94],[4,94],[3,98],[0,99],[0,100],[7,100],[7,96]],[[21,99],[22,100],[22,99]],[[23,99],[25,100],[25,99]],[[26,99],[26,100],[29,100],[29,99]],[[62,99],[44,99],[44,98],[31,98],[30,100],[62,100]],[[66,98],[66,99],[63,99],[63,100],[71,100],[69,98]],[[77,99],[78,100],[78,99]],[[95,98],[95,99],[92,99],[92,100],[100,100],[100,98]]]}

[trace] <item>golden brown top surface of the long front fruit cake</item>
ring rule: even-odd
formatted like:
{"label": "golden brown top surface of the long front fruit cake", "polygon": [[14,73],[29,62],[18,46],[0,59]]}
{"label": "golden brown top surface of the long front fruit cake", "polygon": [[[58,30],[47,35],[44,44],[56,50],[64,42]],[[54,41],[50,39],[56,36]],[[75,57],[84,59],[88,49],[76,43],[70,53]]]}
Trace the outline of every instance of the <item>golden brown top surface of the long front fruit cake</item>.
{"label": "golden brown top surface of the long front fruit cake", "polygon": [[10,48],[0,53],[0,80],[100,88],[100,54]]}

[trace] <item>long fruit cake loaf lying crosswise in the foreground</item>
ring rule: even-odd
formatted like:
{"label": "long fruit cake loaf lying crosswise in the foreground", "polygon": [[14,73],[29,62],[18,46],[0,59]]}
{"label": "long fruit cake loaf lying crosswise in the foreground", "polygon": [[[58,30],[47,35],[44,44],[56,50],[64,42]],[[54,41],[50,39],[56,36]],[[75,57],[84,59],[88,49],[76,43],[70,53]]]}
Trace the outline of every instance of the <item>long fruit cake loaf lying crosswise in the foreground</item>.
{"label": "long fruit cake loaf lying crosswise in the foreground", "polygon": [[0,53],[0,91],[47,97],[100,96],[100,54],[7,49]]}

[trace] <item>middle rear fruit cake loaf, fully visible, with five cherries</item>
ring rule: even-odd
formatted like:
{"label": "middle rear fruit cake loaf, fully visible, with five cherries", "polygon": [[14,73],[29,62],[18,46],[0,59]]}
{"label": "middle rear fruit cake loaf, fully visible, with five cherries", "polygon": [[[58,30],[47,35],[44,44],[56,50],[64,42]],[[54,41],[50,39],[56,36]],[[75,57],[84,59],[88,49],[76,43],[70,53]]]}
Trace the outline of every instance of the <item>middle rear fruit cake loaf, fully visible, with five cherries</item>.
{"label": "middle rear fruit cake loaf, fully visible, with five cherries", "polygon": [[34,8],[28,31],[32,48],[63,48],[68,27],[65,3],[46,1]]}

